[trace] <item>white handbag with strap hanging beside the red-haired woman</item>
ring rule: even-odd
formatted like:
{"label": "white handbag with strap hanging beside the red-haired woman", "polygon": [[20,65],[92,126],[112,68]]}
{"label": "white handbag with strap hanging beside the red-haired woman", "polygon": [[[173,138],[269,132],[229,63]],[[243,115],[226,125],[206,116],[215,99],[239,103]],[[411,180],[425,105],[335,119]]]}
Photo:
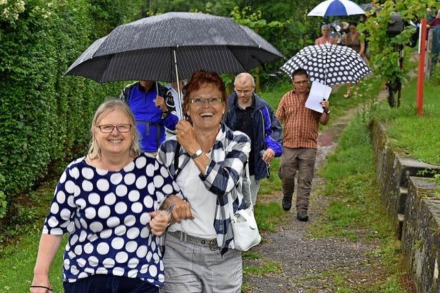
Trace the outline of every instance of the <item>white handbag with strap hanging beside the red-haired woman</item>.
{"label": "white handbag with strap hanging beside the red-haired woman", "polygon": [[[249,177],[246,176],[244,180],[249,180]],[[243,184],[243,187],[245,186],[247,188],[250,187],[250,185]],[[231,216],[231,226],[232,232],[234,233],[234,246],[236,250],[241,251],[248,251],[250,248],[261,242],[259,227],[257,226],[254,217],[254,204],[252,203],[252,196],[250,196],[250,191],[246,192],[250,198],[250,207],[248,207],[248,209],[239,209],[236,211],[236,213],[234,213],[234,210],[232,209],[232,197],[230,194],[228,195],[230,215],[233,215]]]}

